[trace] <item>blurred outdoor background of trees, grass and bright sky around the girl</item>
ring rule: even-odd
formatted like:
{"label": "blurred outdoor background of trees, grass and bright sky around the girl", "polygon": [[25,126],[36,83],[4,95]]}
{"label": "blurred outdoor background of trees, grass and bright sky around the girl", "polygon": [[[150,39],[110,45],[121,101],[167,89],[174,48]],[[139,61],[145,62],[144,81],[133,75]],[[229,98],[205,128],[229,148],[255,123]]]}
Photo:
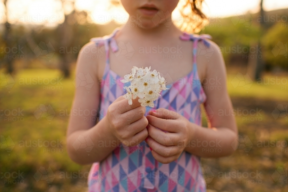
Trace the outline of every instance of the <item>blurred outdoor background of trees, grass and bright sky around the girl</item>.
{"label": "blurred outdoor background of trees, grass and bright sky around the girl", "polygon": [[[203,12],[199,33],[224,56],[239,129],[233,155],[202,159],[207,189],[287,192],[288,1],[207,0]],[[177,9],[172,18],[181,21]],[[65,134],[75,87],[97,82],[75,75],[75,62],[90,38],[127,19],[118,0],[0,2],[1,191],[87,191],[91,165],[71,161]],[[203,111],[203,125],[217,113]]]}

